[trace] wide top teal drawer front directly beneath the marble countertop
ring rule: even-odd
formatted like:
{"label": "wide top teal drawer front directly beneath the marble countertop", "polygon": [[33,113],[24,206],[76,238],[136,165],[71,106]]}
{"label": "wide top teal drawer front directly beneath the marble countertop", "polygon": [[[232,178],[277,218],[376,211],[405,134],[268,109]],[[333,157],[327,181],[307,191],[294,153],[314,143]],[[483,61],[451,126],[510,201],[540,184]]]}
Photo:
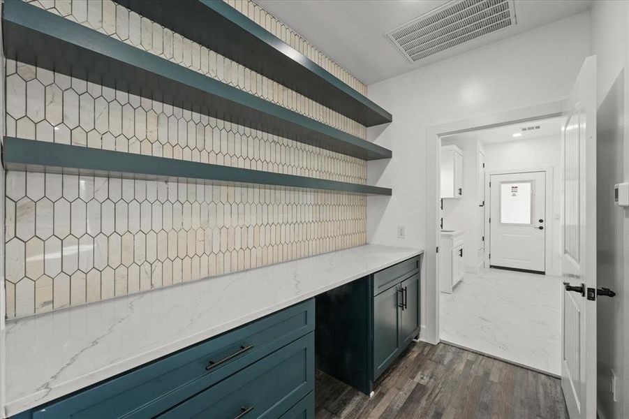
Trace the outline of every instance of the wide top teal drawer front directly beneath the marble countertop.
{"label": "wide top teal drawer front directly beneath the marble countertop", "polygon": [[41,406],[32,417],[155,416],[312,332],[314,323],[314,300],[302,302]]}

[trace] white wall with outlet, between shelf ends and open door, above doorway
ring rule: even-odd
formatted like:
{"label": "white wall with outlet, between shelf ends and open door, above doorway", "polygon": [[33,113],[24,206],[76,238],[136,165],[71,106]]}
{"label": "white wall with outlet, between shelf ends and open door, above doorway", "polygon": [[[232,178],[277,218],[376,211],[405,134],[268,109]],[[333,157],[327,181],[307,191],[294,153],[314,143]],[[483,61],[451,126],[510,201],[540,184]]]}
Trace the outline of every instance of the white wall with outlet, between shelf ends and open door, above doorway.
{"label": "white wall with outlet, between shelf ends and open door, above doorway", "polygon": [[[393,156],[369,162],[367,177],[392,187],[393,196],[368,198],[367,240],[424,247],[426,182],[434,181],[425,175],[428,127],[562,100],[588,55],[584,13],[369,86],[369,97],[393,115],[388,126],[369,128],[369,139]],[[397,238],[397,226],[406,227],[405,239]],[[424,280],[424,303],[425,291]]]}

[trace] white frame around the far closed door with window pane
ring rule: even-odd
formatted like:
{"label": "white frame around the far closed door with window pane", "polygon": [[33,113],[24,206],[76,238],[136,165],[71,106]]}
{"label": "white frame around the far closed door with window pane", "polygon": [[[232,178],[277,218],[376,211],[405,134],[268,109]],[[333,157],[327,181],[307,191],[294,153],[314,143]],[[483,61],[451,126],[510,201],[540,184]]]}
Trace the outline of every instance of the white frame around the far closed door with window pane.
{"label": "white frame around the far closed door with window pane", "polygon": [[[548,167],[540,167],[540,168],[521,168],[521,169],[501,169],[501,170],[487,170],[485,172],[485,208],[489,208],[489,211],[485,211],[485,252],[483,256],[483,266],[489,267],[489,253],[491,252],[491,224],[489,223],[489,216],[491,215],[491,193],[489,193],[489,179],[491,175],[511,175],[517,173],[528,173],[528,172],[545,172],[546,173],[546,221],[545,221],[545,271],[547,275],[558,276],[561,274],[559,267],[555,266],[553,259],[553,233],[555,230],[555,217],[553,212],[553,198],[554,198],[554,190],[553,190],[553,181],[554,181],[554,172],[553,168]],[[551,234],[548,232],[551,231]],[[561,235],[560,235],[561,240]],[[555,243],[557,249],[559,249],[558,244]]]}

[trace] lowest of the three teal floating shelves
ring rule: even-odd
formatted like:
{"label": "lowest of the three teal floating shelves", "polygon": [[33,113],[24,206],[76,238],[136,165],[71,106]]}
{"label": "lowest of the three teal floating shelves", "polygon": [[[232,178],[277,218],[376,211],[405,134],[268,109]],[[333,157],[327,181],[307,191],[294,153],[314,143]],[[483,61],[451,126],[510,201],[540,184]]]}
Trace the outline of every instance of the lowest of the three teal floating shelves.
{"label": "lowest of the three teal floating shelves", "polygon": [[314,177],[285,175],[197,163],[165,157],[5,137],[3,163],[7,170],[80,175],[121,176],[134,179],[203,179],[216,184],[260,184],[321,189],[343,193],[391,196],[388,188],[336,182]]}

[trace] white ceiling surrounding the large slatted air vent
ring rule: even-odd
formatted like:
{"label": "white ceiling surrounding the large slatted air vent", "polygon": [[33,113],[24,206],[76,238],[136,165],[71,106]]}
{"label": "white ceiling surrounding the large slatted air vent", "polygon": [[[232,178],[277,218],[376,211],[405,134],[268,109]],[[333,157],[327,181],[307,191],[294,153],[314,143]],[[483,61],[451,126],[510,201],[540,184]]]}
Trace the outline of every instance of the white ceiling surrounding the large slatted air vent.
{"label": "white ceiling surrounding the large slatted air vent", "polygon": [[410,64],[385,34],[445,0],[255,0],[366,84],[589,10],[589,0],[515,0],[517,24]]}

